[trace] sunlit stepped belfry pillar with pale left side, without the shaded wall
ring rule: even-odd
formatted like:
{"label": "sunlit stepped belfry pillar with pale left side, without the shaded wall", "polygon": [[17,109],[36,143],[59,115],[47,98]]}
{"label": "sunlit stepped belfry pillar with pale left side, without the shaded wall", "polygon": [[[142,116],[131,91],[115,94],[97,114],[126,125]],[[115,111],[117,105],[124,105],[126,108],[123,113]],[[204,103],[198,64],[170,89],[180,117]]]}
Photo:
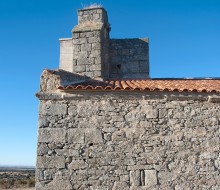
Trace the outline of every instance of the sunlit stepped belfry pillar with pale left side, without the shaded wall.
{"label": "sunlit stepped belfry pillar with pale left side, without the shaded wall", "polygon": [[91,78],[108,78],[109,32],[104,8],[78,10],[72,38],[60,39],[60,69]]}

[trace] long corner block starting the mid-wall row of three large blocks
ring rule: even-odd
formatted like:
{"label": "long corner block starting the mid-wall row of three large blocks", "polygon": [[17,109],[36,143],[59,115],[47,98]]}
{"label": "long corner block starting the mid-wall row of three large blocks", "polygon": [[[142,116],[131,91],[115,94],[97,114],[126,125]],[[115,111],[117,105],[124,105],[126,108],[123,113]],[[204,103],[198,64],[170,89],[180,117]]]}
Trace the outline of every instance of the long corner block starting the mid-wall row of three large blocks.
{"label": "long corner block starting the mid-wall row of three large blocks", "polygon": [[38,142],[64,143],[66,130],[63,128],[39,128]]}

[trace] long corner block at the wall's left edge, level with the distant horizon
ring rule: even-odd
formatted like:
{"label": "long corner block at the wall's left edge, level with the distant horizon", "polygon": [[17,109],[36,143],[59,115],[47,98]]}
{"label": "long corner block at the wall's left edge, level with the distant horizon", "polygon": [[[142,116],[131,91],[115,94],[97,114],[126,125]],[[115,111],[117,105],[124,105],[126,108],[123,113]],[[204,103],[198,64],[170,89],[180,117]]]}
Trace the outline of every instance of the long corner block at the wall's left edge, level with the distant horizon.
{"label": "long corner block at the wall's left edge, level with the distant horizon", "polygon": [[37,167],[39,169],[43,169],[43,168],[63,169],[65,168],[65,158],[64,156],[54,156],[54,157],[38,156]]}

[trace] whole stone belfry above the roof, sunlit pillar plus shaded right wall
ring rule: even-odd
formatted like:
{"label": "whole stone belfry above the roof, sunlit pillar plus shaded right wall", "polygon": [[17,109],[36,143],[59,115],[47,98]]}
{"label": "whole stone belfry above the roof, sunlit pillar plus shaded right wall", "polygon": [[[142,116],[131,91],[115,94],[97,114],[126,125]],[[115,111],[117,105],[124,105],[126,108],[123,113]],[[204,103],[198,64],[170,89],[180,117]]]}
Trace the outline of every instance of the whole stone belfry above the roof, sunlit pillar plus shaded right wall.
{"label": "whole stone belfry above the roof, sunlit pillar plus shaded right wall", "polygon": [[78,10],[72,38],[60,39],[60,69],[92,79],[149,78],[148,38],[110,39],[104,8]]}

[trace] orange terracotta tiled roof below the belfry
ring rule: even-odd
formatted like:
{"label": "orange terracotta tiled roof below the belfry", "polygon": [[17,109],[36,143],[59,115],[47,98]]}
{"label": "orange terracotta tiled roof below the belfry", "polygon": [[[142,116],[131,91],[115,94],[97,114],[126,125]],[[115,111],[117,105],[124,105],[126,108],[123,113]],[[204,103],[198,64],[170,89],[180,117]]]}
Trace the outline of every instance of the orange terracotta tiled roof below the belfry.
{"label": "orange terracotta tiled roof below the belfry", "polygon": [[220,79],[145,79],[145,80],[88,80],[60,86],[60,90],[139,90],[172,92],[220,92]]}

